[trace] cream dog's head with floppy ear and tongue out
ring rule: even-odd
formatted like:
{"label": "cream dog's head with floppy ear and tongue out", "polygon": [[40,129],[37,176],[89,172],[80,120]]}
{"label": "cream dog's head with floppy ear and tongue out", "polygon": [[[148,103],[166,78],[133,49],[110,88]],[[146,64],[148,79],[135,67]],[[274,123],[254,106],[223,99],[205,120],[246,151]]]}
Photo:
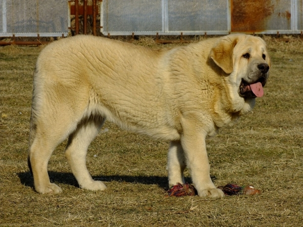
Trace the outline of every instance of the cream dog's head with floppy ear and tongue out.
{"label": "cream dog's head with floppy ear and tongue out", "polygon": [[230,74],[240,96],[263,96],[271,65],[263,39],[244,34],[224,36],[212,48],[210,58]]}

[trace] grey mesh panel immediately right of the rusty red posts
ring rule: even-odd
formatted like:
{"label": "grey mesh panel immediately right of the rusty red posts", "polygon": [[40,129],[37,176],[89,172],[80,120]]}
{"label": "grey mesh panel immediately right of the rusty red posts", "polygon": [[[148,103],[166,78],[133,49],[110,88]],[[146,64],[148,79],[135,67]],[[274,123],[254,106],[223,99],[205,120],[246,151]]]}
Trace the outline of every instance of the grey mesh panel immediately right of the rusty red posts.
{"label": "grey mesh panel immediately right of the rusty red posts", "polygon": [[102,14],[104,33],[162,31],[161,0],[104,0]]}

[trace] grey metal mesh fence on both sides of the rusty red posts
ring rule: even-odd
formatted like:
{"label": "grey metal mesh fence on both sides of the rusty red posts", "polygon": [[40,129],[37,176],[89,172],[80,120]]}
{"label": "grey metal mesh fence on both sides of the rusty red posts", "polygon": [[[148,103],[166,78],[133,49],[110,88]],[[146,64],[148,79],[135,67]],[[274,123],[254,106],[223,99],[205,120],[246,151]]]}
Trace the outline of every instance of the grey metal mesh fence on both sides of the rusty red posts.
{"label": "grey metal mesh fence on both sides of the rusty red posts", "polygon": [[[303,31],[303,0],[98,1],[104,35],[302,34]],[[67,36],[71,29],[68,2],[0,0],[0,37]]]}

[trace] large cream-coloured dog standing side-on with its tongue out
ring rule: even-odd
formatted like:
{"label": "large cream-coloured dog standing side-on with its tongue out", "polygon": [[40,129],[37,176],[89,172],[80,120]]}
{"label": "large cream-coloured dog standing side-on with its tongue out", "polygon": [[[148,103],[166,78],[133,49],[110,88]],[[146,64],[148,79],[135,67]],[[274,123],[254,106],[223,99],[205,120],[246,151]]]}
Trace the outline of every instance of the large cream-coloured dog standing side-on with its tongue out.
{"label": "large cream-coloured dog standing side-on with its tongue out", "polygon": [[205,139],[249,112],[263,95],[270,59],[258,37],[232,34],[172,49],[79,35],[37,60],[29,166],[39,193],[60,193],[47,162],[69,137],[66,157],[80,188],[105,190],[86,168],[87,147],[105,120],[169,140],[169,186],[187,166],[199,196],[222,197],[210,178]]}

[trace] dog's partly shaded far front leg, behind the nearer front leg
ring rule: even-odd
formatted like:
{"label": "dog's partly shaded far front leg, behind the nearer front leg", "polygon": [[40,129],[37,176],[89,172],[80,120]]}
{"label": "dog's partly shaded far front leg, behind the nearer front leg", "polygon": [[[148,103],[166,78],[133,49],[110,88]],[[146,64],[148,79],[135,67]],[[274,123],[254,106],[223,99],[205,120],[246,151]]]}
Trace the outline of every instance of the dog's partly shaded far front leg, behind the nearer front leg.
{"label": "dog's partly shaded far front leg, behind the nearer front leg", "polygon": [[184,151],[180,141],[171,141],[167,154],[168,185],[184,184],[183,171],[186,167]]}

